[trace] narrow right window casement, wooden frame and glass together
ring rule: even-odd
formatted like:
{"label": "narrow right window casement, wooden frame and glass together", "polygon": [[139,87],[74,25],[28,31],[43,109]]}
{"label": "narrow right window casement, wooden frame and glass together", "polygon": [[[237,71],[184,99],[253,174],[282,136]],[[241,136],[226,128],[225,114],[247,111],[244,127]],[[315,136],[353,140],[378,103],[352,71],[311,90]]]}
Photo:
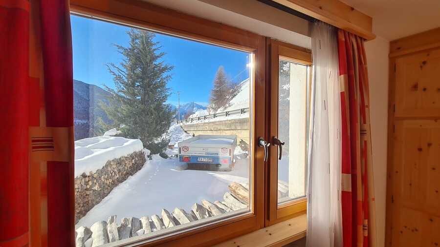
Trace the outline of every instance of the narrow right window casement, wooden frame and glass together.
{"label": "narrow right window casement, wooden frame and glass together", "polygon": [[271,150],[268,224],[306,210],[310,53],[270,40]]}

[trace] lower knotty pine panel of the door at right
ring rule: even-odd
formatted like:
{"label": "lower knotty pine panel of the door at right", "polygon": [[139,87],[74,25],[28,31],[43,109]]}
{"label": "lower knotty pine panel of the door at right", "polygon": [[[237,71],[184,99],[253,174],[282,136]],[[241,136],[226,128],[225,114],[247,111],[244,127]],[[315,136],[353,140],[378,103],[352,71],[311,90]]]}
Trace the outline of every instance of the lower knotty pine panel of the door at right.
{"label": "lower knotty pine panel of the door at right", "polygon": [[439,163],[440,121],[395,122],[393,246],[439,244],[439,236],[437,236],[440,235]]}

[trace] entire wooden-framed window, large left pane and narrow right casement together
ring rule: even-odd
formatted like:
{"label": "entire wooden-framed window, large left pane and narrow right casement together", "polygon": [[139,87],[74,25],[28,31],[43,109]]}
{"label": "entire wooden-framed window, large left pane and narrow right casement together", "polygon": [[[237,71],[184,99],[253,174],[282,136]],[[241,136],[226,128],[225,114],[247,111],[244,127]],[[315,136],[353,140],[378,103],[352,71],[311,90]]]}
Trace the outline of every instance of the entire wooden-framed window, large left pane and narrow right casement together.
{"label": "entire wooden-framed window, large left pane and narrow right casement together", "polygon": [[79,245],[210,245],[305,213],[307,50],[143,1],[70,8]]}

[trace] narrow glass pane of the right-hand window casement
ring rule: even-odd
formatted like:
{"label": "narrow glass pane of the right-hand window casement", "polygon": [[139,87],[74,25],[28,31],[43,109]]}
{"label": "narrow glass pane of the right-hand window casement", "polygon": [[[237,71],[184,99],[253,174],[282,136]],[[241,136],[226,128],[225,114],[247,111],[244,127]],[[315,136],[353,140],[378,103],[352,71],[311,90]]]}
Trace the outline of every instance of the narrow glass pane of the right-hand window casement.
{"label": "narrow glass pane of the right-hand window casement", "polygon": [[308,66],[280,59],[278,82],[278,139],[285,143],[278,160],[280,204],[305,196]]}

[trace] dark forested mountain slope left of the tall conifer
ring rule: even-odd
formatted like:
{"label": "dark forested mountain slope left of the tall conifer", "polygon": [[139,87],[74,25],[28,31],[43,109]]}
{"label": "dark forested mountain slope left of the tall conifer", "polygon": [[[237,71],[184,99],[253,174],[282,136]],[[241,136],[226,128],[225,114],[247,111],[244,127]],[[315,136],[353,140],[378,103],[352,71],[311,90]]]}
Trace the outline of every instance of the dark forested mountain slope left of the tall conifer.
{"label": "dark forested mountain slope left of the tall conifer", "polygon": [[73,80],[73,117],[75,128],[75,141],[97,136],[98,126],[96,121],[102,118],[104,123],[110,119],[99,102],[109,103],[110,94],[99,86]]}

